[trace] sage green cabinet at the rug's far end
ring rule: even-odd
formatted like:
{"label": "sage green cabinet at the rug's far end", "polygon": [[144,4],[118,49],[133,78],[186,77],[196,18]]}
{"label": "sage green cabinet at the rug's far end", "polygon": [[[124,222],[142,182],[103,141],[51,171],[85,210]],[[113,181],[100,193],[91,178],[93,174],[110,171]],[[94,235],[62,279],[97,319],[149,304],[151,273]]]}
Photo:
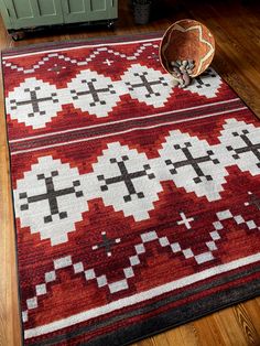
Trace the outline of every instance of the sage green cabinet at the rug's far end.
{"label": "sage green cabinet at the rug's far end", "polygon": [[6,28],[31,28],[93,21],[113,21],[118,0],[0,0]]}

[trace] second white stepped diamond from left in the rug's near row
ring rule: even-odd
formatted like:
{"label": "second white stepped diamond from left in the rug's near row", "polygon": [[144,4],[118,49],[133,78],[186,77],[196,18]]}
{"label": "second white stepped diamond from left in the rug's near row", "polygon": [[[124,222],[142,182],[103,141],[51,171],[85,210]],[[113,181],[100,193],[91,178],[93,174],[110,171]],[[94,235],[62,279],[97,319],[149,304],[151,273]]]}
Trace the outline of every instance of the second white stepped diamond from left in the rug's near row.
{"label": "second white stepped diamond from left in the rug's near row", "polygon": [[149,218],[148,212],[154,208],[153,203],[162,191],[152,163],[144,153],[119,142],[109,143],[102,153],[93,167],[105,205],[112,205],[124,216],[132,215],[137,221]]}

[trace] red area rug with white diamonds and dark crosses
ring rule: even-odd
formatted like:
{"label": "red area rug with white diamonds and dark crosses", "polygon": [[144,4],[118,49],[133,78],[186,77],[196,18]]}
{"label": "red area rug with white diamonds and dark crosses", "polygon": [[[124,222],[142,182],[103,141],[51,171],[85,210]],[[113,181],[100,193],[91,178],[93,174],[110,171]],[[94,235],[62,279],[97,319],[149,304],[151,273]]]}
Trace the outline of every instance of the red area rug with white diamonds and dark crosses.
{"label": "red area rug with white diamonds and dark crosses", "polygon": [[25,345],[124,345],[260,293],[260,122],[161,34],[4,52]]}

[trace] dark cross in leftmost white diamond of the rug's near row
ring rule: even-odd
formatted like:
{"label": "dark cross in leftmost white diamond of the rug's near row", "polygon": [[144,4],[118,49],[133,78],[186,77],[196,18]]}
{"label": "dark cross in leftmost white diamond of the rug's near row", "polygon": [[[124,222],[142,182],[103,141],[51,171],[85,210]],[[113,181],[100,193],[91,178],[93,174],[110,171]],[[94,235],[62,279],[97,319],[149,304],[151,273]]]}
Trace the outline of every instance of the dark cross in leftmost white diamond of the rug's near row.
{"label": "dark cross in leftmost white diamond of the rug's near row", "polygon": [[53,215],[58,214],[59,219],[66,218],[67,213],[66,212],[59,212],[58,210],[58,203],[57,203],[57,197],[69,195],[69,194],[75,194],[76,197],[82,197],[83,192],[82,191],[76,191],[76,186],[80,185],[79,181],[74,181],[72,187],[66,187],[62,190],[55,190],[54,186],[54,181],[53,179],[58,175],[57,171],[53,171],[51,173],[51,176],[45,176],[45,174],[39,174],[37,180],[44,180],[45,186],[46,186],[46,192],[40,195],[35,196],[28,196],[28,193],[21,193],[19,195],[20,199],[26,199],[25,204],[21,205],[21,210],[28,210],[29,209],[29,204],[30,203],[35,203],[40,201],[47,201],[50,205],[50,210],[51,215],[44,216],[44,223],[51,223],[53,220]]}

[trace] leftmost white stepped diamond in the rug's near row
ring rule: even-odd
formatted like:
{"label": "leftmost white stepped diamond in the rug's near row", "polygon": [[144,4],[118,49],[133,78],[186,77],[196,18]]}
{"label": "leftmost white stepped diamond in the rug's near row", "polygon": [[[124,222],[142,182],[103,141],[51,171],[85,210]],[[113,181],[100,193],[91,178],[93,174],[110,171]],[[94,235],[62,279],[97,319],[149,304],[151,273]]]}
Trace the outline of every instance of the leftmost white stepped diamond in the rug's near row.
{"label": "leftmost white stepped diamond in the rug's near row", "polygon": [[53,246],[67,241],[67,234],[88,210],[78,170],[52,156],[40,158],[18,181],[14,202],[22,227],[30,226],[32,234],[40,233],[41,239],[51,239]]}

